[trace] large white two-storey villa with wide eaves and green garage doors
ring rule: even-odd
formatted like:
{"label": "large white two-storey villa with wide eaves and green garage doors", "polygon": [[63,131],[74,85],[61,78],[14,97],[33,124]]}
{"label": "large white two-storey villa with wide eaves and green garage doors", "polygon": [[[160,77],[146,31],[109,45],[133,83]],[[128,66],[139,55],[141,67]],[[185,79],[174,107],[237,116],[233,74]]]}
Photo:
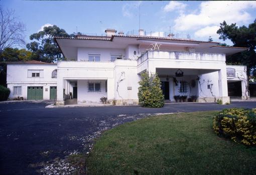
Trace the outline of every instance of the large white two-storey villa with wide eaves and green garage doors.
{"label": "large white two-storey villa with wide eaves and green garage doors", "polygon": [[248,97],[245,66],[228,66],[226,55],[247,48],[223,47],[216,42],[139,35],[105,30],[106,36],[56,37],[65,61],[14,62],[7,67],[10,99],[66,99],[78,104],[138,104],[140,74],[157,73],[165,100],[197,96],[197,102],[229,102],[228,84],[238,82],[239,96]]}

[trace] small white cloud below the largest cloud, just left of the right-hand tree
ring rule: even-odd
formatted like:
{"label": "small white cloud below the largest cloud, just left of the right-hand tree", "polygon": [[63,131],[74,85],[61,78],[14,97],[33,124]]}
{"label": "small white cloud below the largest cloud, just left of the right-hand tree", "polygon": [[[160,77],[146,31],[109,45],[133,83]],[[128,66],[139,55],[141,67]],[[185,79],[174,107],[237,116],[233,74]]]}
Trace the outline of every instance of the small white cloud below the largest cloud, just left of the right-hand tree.
{"label": "small white cloud below the largest cloud, just left of the right-hand tree", "polygon": [[219,35],[216,33],[219,29],[219,26],[207,26],[195,32],[195,37],[197,38],[208,38],[212,37],[217,40]]}

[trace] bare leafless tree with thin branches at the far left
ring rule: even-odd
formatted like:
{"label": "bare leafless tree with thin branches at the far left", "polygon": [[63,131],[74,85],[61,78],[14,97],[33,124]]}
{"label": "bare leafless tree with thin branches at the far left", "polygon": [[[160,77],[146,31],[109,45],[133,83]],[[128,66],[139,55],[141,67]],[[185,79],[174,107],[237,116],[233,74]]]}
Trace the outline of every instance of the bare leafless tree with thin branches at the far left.
{"label": "bare leafless tree with thin branches at the far left", "polygon": [[0,54],[9,47],[25,45],[25,25],[18,22],[13,10],[0,7]]}

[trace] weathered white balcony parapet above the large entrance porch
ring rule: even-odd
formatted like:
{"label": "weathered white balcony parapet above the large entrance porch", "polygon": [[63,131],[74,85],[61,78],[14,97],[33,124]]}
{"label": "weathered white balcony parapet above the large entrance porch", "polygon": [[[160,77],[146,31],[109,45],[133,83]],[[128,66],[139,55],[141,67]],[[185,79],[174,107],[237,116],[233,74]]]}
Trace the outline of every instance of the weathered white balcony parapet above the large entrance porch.
{"label": "weathered white balcony parapet above the large entrance porch", "polygon": [[147,51],[137,59],[137,64],[140,65],[147,59],[226,61],[225,54]]}

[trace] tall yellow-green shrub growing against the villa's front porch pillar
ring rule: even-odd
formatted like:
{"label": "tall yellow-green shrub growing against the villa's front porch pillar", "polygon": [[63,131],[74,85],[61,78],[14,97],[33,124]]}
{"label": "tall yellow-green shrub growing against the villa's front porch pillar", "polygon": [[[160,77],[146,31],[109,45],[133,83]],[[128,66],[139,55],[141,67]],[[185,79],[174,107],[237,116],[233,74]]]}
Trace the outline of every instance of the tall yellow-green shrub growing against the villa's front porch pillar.
{"label": "tall yellow-green shrub growing against the villa's front porch pillar", "polygon": [[144,72],[141,74],[141,81],[139,82],[139,103],[143,107],[163,107],[164,95],[161,90],[160,78],[157,74]]}

